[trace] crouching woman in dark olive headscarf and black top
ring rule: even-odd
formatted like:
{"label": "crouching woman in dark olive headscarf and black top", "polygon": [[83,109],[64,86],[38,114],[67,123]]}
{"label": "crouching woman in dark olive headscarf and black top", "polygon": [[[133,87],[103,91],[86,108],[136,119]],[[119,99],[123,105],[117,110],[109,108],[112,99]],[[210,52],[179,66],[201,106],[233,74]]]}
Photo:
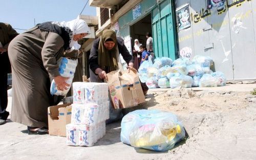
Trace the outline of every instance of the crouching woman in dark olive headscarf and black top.
{"label": "crouching woman in dark olive headscarf and black top", "polygon": [[103,82],[106,74],[118,70],[119,54],[122,55],[128,68],[133,67],[133,56],[124,45],[122,38],[117,37],[112,30],[104,30],[102,35],[94,40],[91,49],[90,80],[91,82]]}

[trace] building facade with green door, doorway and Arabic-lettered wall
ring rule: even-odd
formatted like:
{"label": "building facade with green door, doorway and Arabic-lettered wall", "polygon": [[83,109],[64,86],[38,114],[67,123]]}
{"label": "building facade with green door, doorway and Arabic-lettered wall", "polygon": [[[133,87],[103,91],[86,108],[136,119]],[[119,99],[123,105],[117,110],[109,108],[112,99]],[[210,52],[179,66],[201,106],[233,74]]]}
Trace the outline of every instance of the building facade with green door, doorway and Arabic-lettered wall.
{"label": "building facade with green door, doorway and Arabic-lettered wall", "polygon": [[256,79],[255,0],[90,0],[99,17],[99,36],[109,28],[130,52],[134,39],[154,40],[156,57],[210,56],[228,80]]}

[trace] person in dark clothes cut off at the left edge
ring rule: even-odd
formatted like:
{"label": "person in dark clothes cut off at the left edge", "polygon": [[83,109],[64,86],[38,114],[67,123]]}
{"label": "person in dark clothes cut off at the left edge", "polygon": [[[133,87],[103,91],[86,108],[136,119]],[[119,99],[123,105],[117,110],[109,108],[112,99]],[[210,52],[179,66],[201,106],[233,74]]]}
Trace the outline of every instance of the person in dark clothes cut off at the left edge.
{"label": "person in dark clothes cut off at the left edge", "polygon": [[11,25],[0,22],[0,125],[6,123],[9,112],[6,111],[7,97],[7,74],[11,73],[11,64],[8,57],[8,45],[18,33]]}

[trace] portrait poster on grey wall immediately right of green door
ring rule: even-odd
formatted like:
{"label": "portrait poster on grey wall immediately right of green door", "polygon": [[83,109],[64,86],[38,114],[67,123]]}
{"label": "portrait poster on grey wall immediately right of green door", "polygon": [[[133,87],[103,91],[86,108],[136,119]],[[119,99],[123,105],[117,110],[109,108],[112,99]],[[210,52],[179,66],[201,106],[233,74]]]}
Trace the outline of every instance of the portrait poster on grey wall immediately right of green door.
{"label": "portrait poster on grey wall immediately right of green door", "polygon": [[177,8],[176,16],[177,16],[177,25],[178,25],[179,31],[190,27],[191,22],[190,22],[190,14],[189,14],[189,5],[188,4]]}

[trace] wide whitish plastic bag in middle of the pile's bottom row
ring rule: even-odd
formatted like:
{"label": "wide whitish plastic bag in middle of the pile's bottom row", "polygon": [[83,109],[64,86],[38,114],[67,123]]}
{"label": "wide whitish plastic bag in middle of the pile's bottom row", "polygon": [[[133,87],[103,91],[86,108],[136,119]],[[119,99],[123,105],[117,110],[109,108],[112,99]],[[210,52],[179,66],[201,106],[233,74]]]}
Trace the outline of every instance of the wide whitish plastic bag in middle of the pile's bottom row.
{"label": "wide whitish plastic bag in middle of the pile's bottom row", "polygon": [[174,75],[173,77],[170,77],[170,88],[190,88],[193,83],[193,78],[190,76],[185,75]]}

